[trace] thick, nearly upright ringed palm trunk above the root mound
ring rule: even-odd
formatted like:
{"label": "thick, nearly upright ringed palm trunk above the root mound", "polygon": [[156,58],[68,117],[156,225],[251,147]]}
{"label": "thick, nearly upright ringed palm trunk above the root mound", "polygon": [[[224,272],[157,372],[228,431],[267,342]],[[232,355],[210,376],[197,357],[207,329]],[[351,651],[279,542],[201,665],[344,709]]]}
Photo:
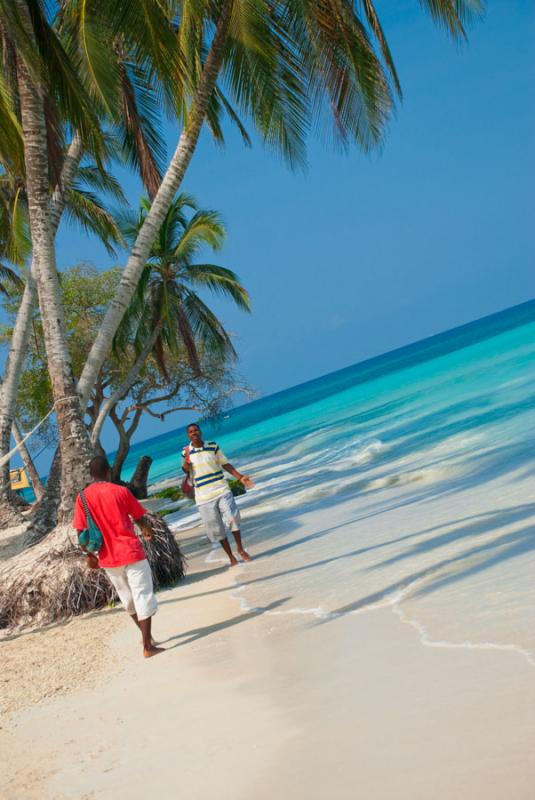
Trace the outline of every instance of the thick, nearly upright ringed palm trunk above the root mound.
{"label": "thick, nearly upright ringed palm trunk above the root mound", "polygon": [[[23,0],[18,0],[17,5],[22,18],[26,20],[27,6]],[[43,99],[32,84],[21,59],[18,59],[18,82],[28,214],[34,258],[38,264],[37,290],[56,408],[62,467],[64,474],[69,476],[68,480],[62,481],[59,519],[63,521],[70,516],[76,492],[87,480],[91,445],[83,422],[67,347],[54,238],[50,227],[48,151]]]}

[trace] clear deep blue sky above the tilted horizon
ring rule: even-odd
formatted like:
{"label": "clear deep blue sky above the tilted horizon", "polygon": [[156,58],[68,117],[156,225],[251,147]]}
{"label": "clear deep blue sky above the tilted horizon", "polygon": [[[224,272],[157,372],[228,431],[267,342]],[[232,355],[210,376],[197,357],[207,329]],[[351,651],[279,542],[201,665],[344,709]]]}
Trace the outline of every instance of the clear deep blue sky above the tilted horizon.
{"label": "clear deep blue sky above the tilted horizon", "polygon": [[[260,394],[535,295],[533,4],[489,0],[464,46],[417,0],[378,6],[404,91],[381,152],[311,141],[301,174],[232,132],[225,149],[206,135],[184,183],[227,224],[214,260],[239,273],[253,314],[212,305]],[[128,190],[135,203],[137,184]],[[61,230],[61,267],[81,251],[112,263],[80,241]],[[147,421],[137,439],[164,430]]]}

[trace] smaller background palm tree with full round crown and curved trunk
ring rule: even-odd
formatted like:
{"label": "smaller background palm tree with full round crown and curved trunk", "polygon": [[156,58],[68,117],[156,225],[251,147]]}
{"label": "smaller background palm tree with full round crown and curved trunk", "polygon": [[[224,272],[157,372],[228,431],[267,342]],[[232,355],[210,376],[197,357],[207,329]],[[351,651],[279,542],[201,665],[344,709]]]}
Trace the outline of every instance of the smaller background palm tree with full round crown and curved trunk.
{"label": "smaller background palm tree with full round crown and curved trunk", "polygon": [[[188,219],[187,210],[193,211]],[[135,241],[150,211],[147,198],[137,214],[124,214],[121,229],[128,242]],[[116,351],[131,342],[137,357],[128,375],[103,404],[91,433],[94,445],[110,409],[126,396],[152,352],[167,379],[165,350],[185,350],[191,367],[201,373],[199,349],[221,359],[236,358],[232,341],[220,320],[198,294],[208,289],[230,298],[250,311],[249,295],[236,273],[216,264],[194,263],[206,247],[220,250],[225,228],[215,211],[199,210],[187,194],[175,198],[152,246],[130,308],[115,340]],[[133,334],[133,335],[132,335]]]}

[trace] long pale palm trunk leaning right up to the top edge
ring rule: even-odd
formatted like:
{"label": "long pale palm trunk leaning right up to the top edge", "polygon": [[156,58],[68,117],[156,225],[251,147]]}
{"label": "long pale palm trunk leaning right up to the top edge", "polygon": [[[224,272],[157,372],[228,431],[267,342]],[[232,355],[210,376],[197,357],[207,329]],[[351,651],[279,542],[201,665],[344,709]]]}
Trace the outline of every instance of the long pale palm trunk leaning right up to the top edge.
{"label": "long pale palm trunk leaning right up to the top edge", "polygon": [[126,267],[124,268],[121,281],[117,287],[115,297],[102,321],[99,333],[87,358],[78,384],[83,408],[87,405],[97,375],[109,353],[113,337],[130,304],[164,216],[173,202],[173,198],[178,191],[193,153],[195,152],[208,105],[223,64],[225,43],[230,25],[233,2],[234,0],[223,0],[210,50],[204,63],[201,78],[187,120],[180,134],[175,153],[163,177],[160,188],[156,193],[145,222],[139,231]]}

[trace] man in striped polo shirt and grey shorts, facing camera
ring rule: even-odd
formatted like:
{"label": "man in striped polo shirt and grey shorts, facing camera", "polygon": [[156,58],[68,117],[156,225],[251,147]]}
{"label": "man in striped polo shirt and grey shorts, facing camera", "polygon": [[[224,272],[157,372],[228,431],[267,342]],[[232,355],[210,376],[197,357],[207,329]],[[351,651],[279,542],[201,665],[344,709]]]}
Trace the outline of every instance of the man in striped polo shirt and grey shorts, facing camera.
{"label": "man in striped polo shirt and grey shorts, facing camera", "polygon": [[248,475],[241,475],[216,442],[204,442],[198,425],[188,425],[190,444],[182,451],[182,469],[193,479],[195,502],[203,521],[204,530],[211,542],[219,542],[232,567],[238,563],[227,538],[231,530],[236,540],[238,555],[243,561],[250,561],[250,555],[243,549],[240,532],[240,512],[229,489],[223,470],[239,480],[246,489],[254,484]]}

